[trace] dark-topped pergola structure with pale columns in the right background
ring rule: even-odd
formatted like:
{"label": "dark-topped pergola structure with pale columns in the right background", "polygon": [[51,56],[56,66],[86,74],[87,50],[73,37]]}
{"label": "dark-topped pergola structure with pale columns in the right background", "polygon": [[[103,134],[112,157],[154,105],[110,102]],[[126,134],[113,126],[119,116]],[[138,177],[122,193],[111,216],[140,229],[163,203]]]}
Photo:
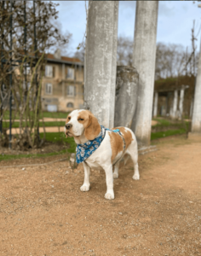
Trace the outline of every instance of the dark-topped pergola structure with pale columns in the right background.
{"label": "dark-topped pergola structure with pale columns in the right background", "polygon": [[169,116],[172,119],[192,116],[194,76],[159,79],[155,81],[153,117]]}

